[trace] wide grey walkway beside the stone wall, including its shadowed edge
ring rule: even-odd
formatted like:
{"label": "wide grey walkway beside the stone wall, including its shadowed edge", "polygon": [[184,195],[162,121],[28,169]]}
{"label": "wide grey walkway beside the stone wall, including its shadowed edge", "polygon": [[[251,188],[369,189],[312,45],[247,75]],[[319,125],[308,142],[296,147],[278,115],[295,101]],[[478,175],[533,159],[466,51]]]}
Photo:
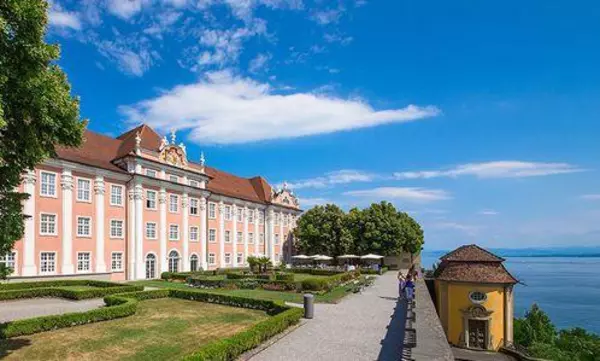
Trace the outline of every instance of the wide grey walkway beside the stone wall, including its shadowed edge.
{"label": "wide grey walkway beside the stone wall, including its shadowed edge", "polygon": [[337,305],[316,304],[314,319],[252,361],[399,360],[406,312],[404,303],[397,303],[396,275],[388,272],[378,277],[365,292]]}

